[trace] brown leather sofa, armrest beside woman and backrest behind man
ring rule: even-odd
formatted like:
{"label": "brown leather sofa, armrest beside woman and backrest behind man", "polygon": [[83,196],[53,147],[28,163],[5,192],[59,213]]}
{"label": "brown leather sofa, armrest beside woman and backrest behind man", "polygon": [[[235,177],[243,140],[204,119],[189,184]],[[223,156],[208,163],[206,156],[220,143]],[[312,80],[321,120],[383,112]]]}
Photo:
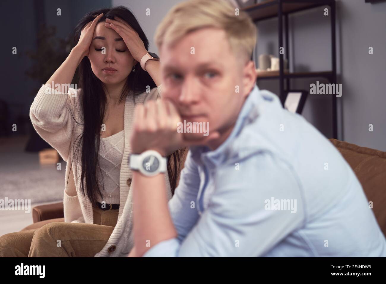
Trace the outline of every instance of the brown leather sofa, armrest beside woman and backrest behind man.
{"label": "brown leather sofa, armrest beside woman and backrest behind man", "polygon": [[[367,199],[373,203],[372,210],[378,224],[386,236],[386,152],[336,139],[329,140],[337,147],[361,182]],[[32,209],[32,218],[34,223],[23,230],[64,221],[63,203],[35,206]]]}

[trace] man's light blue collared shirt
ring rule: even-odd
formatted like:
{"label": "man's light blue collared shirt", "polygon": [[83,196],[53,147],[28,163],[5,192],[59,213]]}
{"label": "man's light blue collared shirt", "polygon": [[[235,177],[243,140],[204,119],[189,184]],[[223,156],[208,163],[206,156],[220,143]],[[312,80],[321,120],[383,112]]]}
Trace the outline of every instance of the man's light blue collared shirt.
{"label": "man's light blue collared shirt", "polygon": [[168,205],[178,237],[145,257],[386,256],[349,164],[257,86],[220,147],[191,147]]}

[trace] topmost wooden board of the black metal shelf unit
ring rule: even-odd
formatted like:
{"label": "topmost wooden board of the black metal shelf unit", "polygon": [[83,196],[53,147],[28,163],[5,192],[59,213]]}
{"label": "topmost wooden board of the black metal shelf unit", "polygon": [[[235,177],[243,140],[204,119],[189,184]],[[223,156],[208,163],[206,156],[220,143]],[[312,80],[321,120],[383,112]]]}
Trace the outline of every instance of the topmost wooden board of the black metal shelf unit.
{"label": "topmost wooden board of the black metal shelf unit", "polygon": [[[284,14],[290,14],[295,13],[301,10],[311,9],[315,7],[320,7],[324,5],[329,5],[333,0],[310,0],[307,2],[301,2],[302,0],[299,0],[298,3],[294,3],[294,0],[281,0],[282,4],[282,11]],[[249,16],[252,18],[254,22],[270,19],[273,17],[278,16],[278,7],[279,1],[278,0],[269,0],[266,2],[254,4],[251,6],[247,6],[245,8],[242,8],[241,10],[244,10],[249,14]]]}

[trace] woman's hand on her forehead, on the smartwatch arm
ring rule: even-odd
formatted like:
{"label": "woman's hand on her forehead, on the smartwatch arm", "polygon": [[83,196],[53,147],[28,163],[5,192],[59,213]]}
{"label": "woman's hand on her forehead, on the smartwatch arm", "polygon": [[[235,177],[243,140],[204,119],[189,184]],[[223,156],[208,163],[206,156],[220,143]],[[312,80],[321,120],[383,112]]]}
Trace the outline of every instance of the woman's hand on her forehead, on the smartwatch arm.
{"label": "woman's hand on her forehead, on the smartwatch arm", "polygon": [[119,17],[115,17],[115,19],[106,19],[105,27],[115,30],[124,40],[133,58],[141,62],[142,57],[147,53],[142,39],[124,20]]}

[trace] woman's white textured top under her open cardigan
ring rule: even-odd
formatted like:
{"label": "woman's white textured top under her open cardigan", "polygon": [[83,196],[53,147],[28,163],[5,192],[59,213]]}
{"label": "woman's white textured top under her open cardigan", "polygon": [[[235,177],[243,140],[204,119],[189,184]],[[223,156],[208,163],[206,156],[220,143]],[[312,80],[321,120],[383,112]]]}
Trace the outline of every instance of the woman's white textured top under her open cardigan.
{"label": "woman's white textured top under her open cardigan", "polygon": [[101,186],[102,198],[98,202],[105,201],[107,204],[119,204],[119,175],[125,150],[124,129],[109,137],[101,137],[99,146],[99,165],[102,172],[99,185]]}

